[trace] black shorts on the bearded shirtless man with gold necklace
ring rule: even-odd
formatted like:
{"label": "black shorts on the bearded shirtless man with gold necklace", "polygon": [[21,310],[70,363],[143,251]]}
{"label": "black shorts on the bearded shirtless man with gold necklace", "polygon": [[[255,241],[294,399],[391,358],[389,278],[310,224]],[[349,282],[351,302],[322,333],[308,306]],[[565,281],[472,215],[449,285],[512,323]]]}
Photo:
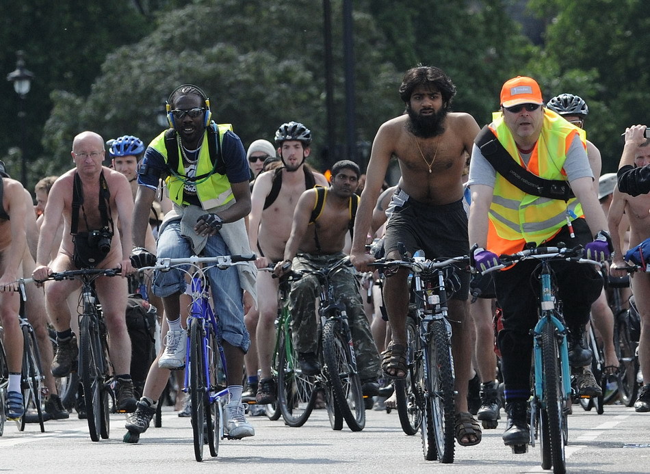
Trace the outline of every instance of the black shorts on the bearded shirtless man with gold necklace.
{"label": "black shorts on the bearded shirtless man with gold necklace", "polygon": [[[402,206],[395,207],[388,220],[384,241],[386,254],[398,250],[400,243],[410,256],[416,250],[424,250],[427,259],[468,255],[467,212],[463,200],[434,206],[408,198]],[[467,300],[469,272],[456,274],[460,289],[450,298]]]}

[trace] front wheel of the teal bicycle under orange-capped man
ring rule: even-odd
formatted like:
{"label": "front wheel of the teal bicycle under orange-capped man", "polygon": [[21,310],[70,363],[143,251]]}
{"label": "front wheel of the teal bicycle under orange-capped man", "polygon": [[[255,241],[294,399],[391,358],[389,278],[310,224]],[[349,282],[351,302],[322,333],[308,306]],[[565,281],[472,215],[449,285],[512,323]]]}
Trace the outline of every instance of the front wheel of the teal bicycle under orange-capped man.
{"label": "front wheel of the teal bicycle under orange-capped man", "polygon": [[562,369],[560,349],[556,328],[545,324],[542,330],[542,374],[545,411],[548,416],[549,445],[553,472],[564,474],[567,471],[564,458],[564,394],[562,393]]}

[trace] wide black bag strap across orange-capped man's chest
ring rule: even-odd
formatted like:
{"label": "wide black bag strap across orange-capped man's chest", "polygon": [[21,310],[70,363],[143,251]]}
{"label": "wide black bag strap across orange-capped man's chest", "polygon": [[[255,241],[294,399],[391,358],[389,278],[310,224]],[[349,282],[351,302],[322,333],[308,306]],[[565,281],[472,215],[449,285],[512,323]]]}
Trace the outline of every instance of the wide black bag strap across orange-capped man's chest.
{"label": "wide black bag strap across orange-capped man's chest", "polygon": [[521,167],[486,125],[474,140],[482,155],[499,174],[523,192],[533,196],[568,201],[575,198],[567,181],[544,179]]}

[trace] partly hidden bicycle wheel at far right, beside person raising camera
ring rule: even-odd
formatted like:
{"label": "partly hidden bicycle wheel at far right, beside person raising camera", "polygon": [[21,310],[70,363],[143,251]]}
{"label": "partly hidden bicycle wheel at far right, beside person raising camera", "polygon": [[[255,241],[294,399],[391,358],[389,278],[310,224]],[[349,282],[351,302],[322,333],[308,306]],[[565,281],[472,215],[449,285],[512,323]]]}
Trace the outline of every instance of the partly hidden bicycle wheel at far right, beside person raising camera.
{"label": "partly hidden bicycle wheel at far right, beside person raising camera", "polygon": [[619,356],[619,398],[625,406],[634,406],[638,397],[636,374],[639,365],[636,357],[637,343],[629,336],[629,328],[623,311],[616,315],[614,325],[614,347]]}

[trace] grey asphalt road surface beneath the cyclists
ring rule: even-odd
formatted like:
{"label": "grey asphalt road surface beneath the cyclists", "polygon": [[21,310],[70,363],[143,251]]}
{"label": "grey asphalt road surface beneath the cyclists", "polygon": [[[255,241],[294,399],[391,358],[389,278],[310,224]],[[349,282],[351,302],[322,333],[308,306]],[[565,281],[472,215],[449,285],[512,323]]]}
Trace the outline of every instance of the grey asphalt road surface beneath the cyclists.
{"label": "grey asphalt road surface beneath the cyclists", "polygon": [[[573,406],[569,418],[567,468],[573,473],[649,473],[650,413],[621,405],[606,406],[604,414]],[[166,408],[163,427],[151,427],[140,443],[122,443],[124,415],[114,414],[111,436],[93,443],[85,420],[76,415],[48,421],[46,432],[27,425],[18,432],[5,424],[0,438],[0,471],[39,473],[543,473],[539,447],[515,455],[503,445],[502,424],[484,430],[482,443],[458,447],[454,464],[425,461],[419,434],[406,436],[393,411],[368,410],[365,430],[331,430],[325,410],[315,410],[300,428],[266,417],[250,417],[256,435],[222,440],[219,456],[194,460],[190,419]]]}

